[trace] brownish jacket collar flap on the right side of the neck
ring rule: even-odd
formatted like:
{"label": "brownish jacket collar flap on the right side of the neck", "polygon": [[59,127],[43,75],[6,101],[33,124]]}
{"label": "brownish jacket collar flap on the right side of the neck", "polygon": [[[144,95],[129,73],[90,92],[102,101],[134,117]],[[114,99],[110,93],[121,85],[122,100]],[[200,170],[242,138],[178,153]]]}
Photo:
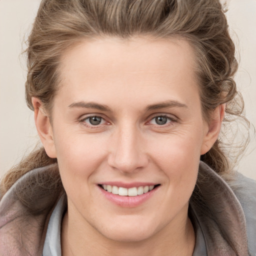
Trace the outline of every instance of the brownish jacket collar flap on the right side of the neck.
{"label": "brownish jacket collar flap on the right side of the neck", "polygon": [[190,207],[203,233],[208,255],[248,255],[241,204],[223,178],[204,162],[199,165]]}

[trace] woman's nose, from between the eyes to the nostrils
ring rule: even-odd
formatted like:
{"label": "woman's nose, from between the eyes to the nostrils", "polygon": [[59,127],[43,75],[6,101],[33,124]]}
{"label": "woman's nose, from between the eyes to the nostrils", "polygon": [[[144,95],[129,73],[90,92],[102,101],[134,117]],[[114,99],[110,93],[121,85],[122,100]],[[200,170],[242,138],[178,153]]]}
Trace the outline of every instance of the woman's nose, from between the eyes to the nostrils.
{"label": "woman's nose, from between the eyes to the nostrils", "polygon": [[136,172],[148,163],[141,131],[134,125],[123,125],[111,137],[108,164],[123,173]]}

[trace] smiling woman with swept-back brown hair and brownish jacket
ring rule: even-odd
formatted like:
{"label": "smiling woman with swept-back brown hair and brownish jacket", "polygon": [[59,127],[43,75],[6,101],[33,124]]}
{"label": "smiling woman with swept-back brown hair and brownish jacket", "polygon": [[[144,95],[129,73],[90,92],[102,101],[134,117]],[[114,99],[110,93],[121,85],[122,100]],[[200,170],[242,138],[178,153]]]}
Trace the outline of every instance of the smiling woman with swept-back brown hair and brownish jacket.
{"label": "smiling woman with swept-back brown hair and brownish jacket", "polygon": [[217,0],[43,0],[27,61],[43,147],[2,179],[3,255],[256,253],[255,182],[218,138],[242,109]]}

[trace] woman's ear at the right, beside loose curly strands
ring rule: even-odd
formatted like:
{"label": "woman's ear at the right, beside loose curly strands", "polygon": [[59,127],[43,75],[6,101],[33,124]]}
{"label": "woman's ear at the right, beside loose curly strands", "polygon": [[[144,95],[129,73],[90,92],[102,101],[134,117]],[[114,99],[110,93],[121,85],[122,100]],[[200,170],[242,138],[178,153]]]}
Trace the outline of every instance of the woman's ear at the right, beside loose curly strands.
{"label": "woman's ear at the right, beside loose curly strands", "polygon": [[209,123],[205,125],[206,130],[201,146],[201,154],[205,154],[217,140],[221,123],[225,114],[225,104],[219,104],[212,112]]}

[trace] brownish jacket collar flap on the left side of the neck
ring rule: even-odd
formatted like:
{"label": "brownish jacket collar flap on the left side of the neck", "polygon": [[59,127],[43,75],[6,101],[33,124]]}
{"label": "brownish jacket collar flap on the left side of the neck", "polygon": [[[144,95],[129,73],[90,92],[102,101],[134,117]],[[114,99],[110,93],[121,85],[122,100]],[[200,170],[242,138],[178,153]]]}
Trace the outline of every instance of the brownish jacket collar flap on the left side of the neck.
{"label": "brownish jacket collar flap on the left side of the neck", "polygon": [[47,223],[61,194],[56,164],[19,178],[0,201],[0,254],[42,255]]}

